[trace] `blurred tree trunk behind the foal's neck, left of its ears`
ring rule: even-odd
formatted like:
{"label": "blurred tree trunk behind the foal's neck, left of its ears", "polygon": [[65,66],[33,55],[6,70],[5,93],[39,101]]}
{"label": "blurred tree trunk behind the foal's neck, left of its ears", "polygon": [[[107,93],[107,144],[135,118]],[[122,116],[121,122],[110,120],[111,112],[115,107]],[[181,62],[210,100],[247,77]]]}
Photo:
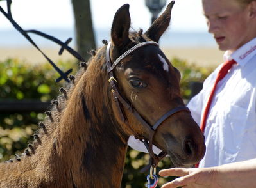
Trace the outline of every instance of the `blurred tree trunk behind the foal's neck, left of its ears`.
{"label": "blurred tree trunk behind the foal's neck, left of its ears", "polygon": [[76,45],[78,53],[84,59],[89,59],[89,52],[95,49],[90,0],[72,0],[74,20],[76,24]]}

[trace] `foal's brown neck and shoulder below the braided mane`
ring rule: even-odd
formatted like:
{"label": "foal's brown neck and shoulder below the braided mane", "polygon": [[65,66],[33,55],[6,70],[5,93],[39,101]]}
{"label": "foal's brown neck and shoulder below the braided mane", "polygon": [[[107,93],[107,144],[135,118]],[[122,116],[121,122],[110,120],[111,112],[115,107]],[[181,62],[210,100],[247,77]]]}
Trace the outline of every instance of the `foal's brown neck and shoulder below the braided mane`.
{"label": "foal's brown neck and shoulder below the braided mane", "polygon": [[96,65],[59,97],[34,151],[0,164],[0,187],[120,187],[128,134],[114,118],[108,81]]}

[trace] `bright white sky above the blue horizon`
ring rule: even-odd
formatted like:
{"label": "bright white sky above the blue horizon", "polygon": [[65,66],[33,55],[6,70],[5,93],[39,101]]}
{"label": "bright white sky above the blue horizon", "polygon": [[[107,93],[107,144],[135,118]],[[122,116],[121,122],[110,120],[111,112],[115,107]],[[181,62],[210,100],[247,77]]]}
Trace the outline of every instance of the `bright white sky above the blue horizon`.
{"label": "bright white sky above the blue horizon", "polygon": [[[167,3],[171,2],[167,0]],[[91,0],[94,29],[110,29],[116,10],[130,4],[134,29],[148,29],[151,13],[144,0]],[[6,1],[0,1],[6,10]],[[164,10],[164,9],[163,9]],[[13,0],[12,16],[23,29],[70,29],[74,27],[71,0]],[[12,24],[0,13],[0,31],[13,29]],[[171,17],[172,31],[207,32],[200,0],[176,0]]]}

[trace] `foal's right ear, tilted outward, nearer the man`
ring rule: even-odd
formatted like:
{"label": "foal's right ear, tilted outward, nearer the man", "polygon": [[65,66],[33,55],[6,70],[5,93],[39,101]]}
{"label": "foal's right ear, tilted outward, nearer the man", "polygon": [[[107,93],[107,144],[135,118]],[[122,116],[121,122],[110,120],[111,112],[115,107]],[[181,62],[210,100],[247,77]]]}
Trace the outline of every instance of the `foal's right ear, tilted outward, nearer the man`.
{"label": "foal's right ear, tilted outward, nearer the man", "polygon": [[158,42],[159,38],[170,24],[171,9],[173,8],[173,4],[175,4],[175,1],[171,1],[171,3],[168,4],[166,10],[162,13],[162,15],[160,15],[160,17],[158,17],[157,20],[155,20],[155,22],[153,22],[144,35],[148,36],[148,38],[151,40]]}

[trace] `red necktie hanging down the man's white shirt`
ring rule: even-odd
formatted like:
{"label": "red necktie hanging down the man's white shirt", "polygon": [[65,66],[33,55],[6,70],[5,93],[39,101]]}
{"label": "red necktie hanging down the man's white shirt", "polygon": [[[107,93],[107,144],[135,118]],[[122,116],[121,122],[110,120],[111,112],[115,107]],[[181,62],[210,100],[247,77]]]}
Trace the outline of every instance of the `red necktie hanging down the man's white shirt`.
{"label": "red necktie hanging down the man's white shirt", "polygon": [[[212,91],[210,91],[210,97],[209,97],[209,100],[207,102],[207,106],[205,107],[205,111],[203,112],[203,118],[201,120],[201,126],[200,126],[201,132],[203,132],[203,133],[205,132],[205,125],[206,125],[207,115],[209,113],[210,104],[212,103],[212,98],[214,96],[214,91],[216,90],[216,86],[217,86],[218,82],[221,81],[221,79],[223,79],[223,77],[225,77],[225,75],[228,73],[228,70],[230,70],[232,65],[235,64],[235,63],[236,62],[234,60],[226,61],[225,63],[223,63],[223,66],[219,70],[219,73],[216,77],[216,81],[214,82],[214,86],[212,88]],[[198,167],[198,164],[196,164],[196,167]]]}

